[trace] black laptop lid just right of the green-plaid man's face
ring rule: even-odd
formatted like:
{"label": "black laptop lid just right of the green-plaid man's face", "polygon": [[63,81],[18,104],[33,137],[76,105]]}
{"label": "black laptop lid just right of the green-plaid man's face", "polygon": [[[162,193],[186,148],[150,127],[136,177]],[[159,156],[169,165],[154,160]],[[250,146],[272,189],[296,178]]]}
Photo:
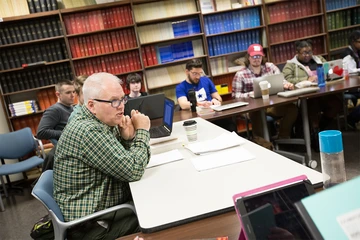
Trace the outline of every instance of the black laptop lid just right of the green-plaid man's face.
{"label": "black laptop lid just right of the green-plaid man's face", "polygon": [[130,98],[125,104],[124,114],[131,116],[131,110],[135,109],[147,115],[151,120],[164,116],[165,94],[151,94],[137,98]]}

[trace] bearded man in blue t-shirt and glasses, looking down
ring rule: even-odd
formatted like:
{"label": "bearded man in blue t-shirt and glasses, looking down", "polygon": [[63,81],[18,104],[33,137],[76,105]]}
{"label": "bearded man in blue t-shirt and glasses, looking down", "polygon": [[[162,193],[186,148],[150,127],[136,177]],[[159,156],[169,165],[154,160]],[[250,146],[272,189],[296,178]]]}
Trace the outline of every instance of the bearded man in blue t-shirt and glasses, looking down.
{"label": "bearded man in blue t-shirt and glasses, looking down", "polygon": [[221,97],[215,89],[214,83],[204,75],[202,62],[192,59],[186,63],[186,79],[176,86],[176,97],[181,109],[190,109],[191,103],[188,98],[189,90],[194,90],[197,106],[210,107],[221,105]]}

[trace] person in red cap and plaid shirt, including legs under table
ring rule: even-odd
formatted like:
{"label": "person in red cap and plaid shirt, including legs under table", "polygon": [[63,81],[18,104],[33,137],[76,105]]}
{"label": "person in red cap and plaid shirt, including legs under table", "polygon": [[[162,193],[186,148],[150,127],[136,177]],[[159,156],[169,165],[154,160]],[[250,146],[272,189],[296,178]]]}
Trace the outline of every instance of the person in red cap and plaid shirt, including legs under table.
{"label": "person in red cap and plaid shirt, including legs under table", "polygon": [[[278,74],[280,70],[273,63],[266,62],[263,47],[260,44],[252,44],[245,56],[245,66],[235,74],[232,82],[233,98],[248,98],[253,91],[253,81],[255,78]],[[294,85],[284,80],[284,89],[294,89]],[[290,138],[292,126],[296,121],[298,111],[295,104],[286,104],[278,107],[266,109],[266,114],[273,117],[281,117],[279,127],[279,138]],[[264,136],[260,111],[249,113],[253,135]]]}

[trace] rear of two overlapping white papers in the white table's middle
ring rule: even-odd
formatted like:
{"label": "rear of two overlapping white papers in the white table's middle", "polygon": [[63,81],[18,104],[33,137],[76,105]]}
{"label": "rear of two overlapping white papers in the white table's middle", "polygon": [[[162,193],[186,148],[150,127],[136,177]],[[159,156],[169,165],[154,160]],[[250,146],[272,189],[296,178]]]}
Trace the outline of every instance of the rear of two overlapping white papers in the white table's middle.
{"label": "rear of two overlapping white papers in the white table's middle", "polygon": [[239,146],[244,143],[245,140],[243,138],[239,137],[235,132],[231,132],[223,133],[211,140],[191,143],[185,147],[195,154],[203,154]]}

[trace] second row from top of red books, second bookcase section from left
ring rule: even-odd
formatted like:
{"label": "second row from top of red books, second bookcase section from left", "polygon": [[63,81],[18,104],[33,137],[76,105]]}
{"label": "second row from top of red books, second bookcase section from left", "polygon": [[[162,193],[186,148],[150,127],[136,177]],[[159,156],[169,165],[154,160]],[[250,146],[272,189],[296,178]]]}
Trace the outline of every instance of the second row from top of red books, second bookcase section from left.
{"label": "second row from top of red books, second bookcase section from left", "polygon": [[133,28],[69,39],[71,56],[80,58],[137,47]]}

